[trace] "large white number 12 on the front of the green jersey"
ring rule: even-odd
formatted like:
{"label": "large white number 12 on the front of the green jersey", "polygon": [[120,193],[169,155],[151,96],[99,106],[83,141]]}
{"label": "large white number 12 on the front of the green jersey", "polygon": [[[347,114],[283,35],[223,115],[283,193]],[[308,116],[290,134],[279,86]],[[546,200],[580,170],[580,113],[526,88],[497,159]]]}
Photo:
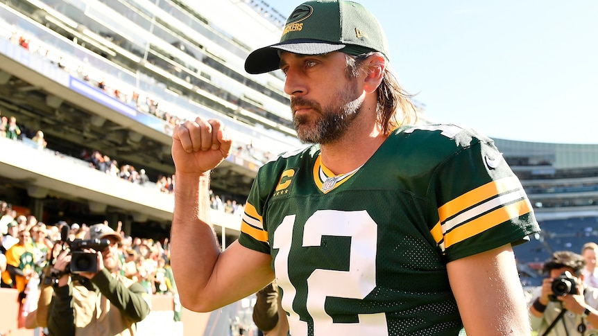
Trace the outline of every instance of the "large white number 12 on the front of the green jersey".
{"label": "large white number 12 on the front of the green jersey", "polygon": [[[273,247],[279,249],[274,266],[277,283],[284,291],[282,308],[289,312],[291,333],[307,335],[307,322],[293,310],[296,288],[289,279],[295,215],[284,218],[274,233]],[[388,335],[384,313],[360,314],[359,323],[334,323],[324,310],[327,297],[364,299],[376,287],[377,225],[367,211],[321,210],[307,220],[303,247],[320,246],[323,236],[351,237],[348,271],[316,269],[307,278],[307,311],[314,319],[314,335]],[[296,265],[295,267],[300,267]]]}

